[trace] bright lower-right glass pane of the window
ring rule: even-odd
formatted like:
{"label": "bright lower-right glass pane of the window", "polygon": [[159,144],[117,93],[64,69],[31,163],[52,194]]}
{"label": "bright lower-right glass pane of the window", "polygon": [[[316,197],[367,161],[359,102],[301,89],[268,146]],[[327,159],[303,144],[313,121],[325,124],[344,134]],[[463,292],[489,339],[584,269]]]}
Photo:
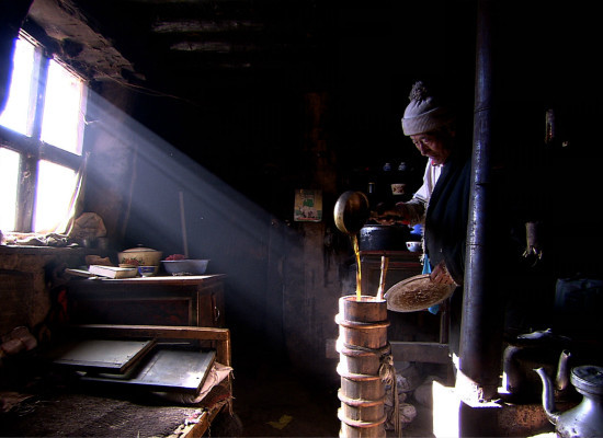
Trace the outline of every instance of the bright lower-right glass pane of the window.
{"label": "bright lower-right glass pane of the window", "polygon": [[37,175],[34,231],[49,232],[64,221],[76,188],[76,171],[41,161]]}

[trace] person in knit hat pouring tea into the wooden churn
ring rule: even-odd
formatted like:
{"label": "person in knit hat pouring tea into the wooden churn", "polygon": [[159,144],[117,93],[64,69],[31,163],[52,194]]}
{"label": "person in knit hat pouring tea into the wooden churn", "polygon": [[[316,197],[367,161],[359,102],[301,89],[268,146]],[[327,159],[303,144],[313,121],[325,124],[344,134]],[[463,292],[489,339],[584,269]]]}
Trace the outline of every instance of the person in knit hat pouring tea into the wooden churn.
{"label": "person in knit hat pouring tea into the wooden churn", "polygon": [[429,159],[423,184],[409,201],[378,208],[376,220],[386,223],[397,218],[411,226],[424,226],[424,273],[431,273],[434,283],[457,286],[451,298],[451,348],[457,353],[471,145],[457,141],[455,112],[425,83],[416,82],[409,99],[401,124],[403,134]]}

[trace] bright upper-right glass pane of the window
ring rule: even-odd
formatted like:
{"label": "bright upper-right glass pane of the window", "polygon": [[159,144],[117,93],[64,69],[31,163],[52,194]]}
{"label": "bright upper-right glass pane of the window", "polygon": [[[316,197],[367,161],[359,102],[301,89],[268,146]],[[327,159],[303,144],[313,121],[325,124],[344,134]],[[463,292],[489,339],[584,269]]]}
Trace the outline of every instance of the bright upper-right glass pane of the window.
{"label": "bright upper-right glass pane of the window", "polygon": [[42,119],[42,141],[81,153],[81,79],[55,60],[48,66],[48,82]]}

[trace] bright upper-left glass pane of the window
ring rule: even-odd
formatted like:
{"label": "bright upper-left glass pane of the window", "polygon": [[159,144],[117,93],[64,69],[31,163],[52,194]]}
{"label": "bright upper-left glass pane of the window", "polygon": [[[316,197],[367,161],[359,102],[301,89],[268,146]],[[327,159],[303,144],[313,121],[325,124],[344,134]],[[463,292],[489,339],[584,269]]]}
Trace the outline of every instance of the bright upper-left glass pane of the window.
{"label": "bright upper-left glass pane of the window", "polygon": [[30,88],[34,71],[35,47],[25,39],[16,39],[13,71],[7,106],[0,115],[0,125],[20,134],[27,132]]}

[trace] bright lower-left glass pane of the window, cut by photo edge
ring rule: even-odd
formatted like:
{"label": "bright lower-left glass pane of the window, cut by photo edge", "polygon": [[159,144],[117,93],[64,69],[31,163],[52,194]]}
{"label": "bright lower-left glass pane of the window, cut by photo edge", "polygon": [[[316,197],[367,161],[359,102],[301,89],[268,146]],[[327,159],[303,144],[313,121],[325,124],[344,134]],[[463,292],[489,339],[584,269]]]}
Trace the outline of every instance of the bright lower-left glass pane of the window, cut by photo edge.
{"label": "bright lower-left glass pane of the window, cut by photo edge", "polygon": [[19,153],[0,148],[0,230],[14,231]]}

